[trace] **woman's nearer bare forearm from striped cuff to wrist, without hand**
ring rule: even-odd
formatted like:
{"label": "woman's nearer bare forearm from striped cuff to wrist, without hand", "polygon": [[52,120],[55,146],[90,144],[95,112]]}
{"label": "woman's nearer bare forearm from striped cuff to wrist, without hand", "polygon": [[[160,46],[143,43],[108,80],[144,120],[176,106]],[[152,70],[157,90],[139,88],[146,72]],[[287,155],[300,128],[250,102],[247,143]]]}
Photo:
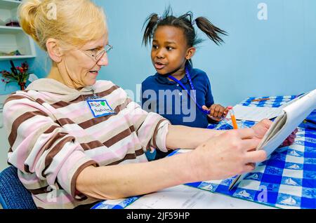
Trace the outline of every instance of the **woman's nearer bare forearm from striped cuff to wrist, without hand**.
{"label": "woman's nearer bare forearm from striped cuff to wrist, without hand", "polygon": [[[147,163],[93,167],[81,171],[77,190],[99,199],[119,199],[148,194],[184,182],[193,182],[189,156],[179,154]],[[190,180],[192,178],[192,180]]]}

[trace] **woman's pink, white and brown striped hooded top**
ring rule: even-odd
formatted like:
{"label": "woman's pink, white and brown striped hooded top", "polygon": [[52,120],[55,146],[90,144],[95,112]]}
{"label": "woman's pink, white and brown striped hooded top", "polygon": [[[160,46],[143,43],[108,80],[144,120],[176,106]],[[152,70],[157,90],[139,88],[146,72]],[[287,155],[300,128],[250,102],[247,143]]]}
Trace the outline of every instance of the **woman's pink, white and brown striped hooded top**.
{"label": "woman's pink, white and brown striped hooded top", "polygon": [[[93,92],[115,114],[95,118],[86,102]],[[98,200],[77,193],[77,176],[88,165],[147,162],[145,151],[166,151],[170,122],[145,112],[111,81],[81,90],[39,79],[4,104],[8,163],[38,208],[75,208]]]}

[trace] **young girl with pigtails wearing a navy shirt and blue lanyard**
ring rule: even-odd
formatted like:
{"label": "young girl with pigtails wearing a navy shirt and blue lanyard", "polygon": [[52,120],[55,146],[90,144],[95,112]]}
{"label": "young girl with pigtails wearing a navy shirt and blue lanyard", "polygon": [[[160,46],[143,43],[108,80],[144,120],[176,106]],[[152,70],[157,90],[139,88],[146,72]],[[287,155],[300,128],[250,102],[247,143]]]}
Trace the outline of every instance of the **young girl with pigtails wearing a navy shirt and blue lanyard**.
{"label": "young girl with pigtails wearing a navy shirt and blue lanyard", "polygon": [[143,109],[159,113],[173,125],[206,128],[223,119],[228,109],[214,104],[209,78],[192,67],[191,58],[197,43],[202,42],[197,39],[195,24],[217,45],[223,42],[219,34],[226,32],[204,17],[193,20],[191,12],[176,18],[171,8],[162,17],[153,13],[146,23],[143,43],[147,46],[152,41],[151,58],[157,73],[142,83]]}

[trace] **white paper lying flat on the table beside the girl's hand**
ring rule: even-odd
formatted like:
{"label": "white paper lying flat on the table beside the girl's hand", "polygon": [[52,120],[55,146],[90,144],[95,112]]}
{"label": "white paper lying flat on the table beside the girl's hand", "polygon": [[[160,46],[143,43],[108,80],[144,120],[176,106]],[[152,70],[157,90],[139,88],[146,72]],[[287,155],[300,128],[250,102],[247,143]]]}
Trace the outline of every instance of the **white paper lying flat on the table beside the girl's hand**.
{"label": "white paper lying flat on the table beside the girl's hand", "polygon": [[234,107],[235,117],[239,120],[261,121],[273,119],[282,114],[282,107],[249,107],[237,104]]}

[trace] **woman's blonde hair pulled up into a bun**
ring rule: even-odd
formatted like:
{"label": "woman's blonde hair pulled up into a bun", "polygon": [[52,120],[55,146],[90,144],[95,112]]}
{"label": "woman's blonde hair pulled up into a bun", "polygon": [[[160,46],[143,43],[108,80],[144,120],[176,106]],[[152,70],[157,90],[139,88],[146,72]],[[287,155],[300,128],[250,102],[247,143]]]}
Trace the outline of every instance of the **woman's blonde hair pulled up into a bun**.
{"label": "woman's blonde hair pulled up into a bun", "polygon": [[48,38],[70,50],[107,34],[103,9],[90,0],[27,0],[19,6],[18,15],[24,32],[43,50]]}

